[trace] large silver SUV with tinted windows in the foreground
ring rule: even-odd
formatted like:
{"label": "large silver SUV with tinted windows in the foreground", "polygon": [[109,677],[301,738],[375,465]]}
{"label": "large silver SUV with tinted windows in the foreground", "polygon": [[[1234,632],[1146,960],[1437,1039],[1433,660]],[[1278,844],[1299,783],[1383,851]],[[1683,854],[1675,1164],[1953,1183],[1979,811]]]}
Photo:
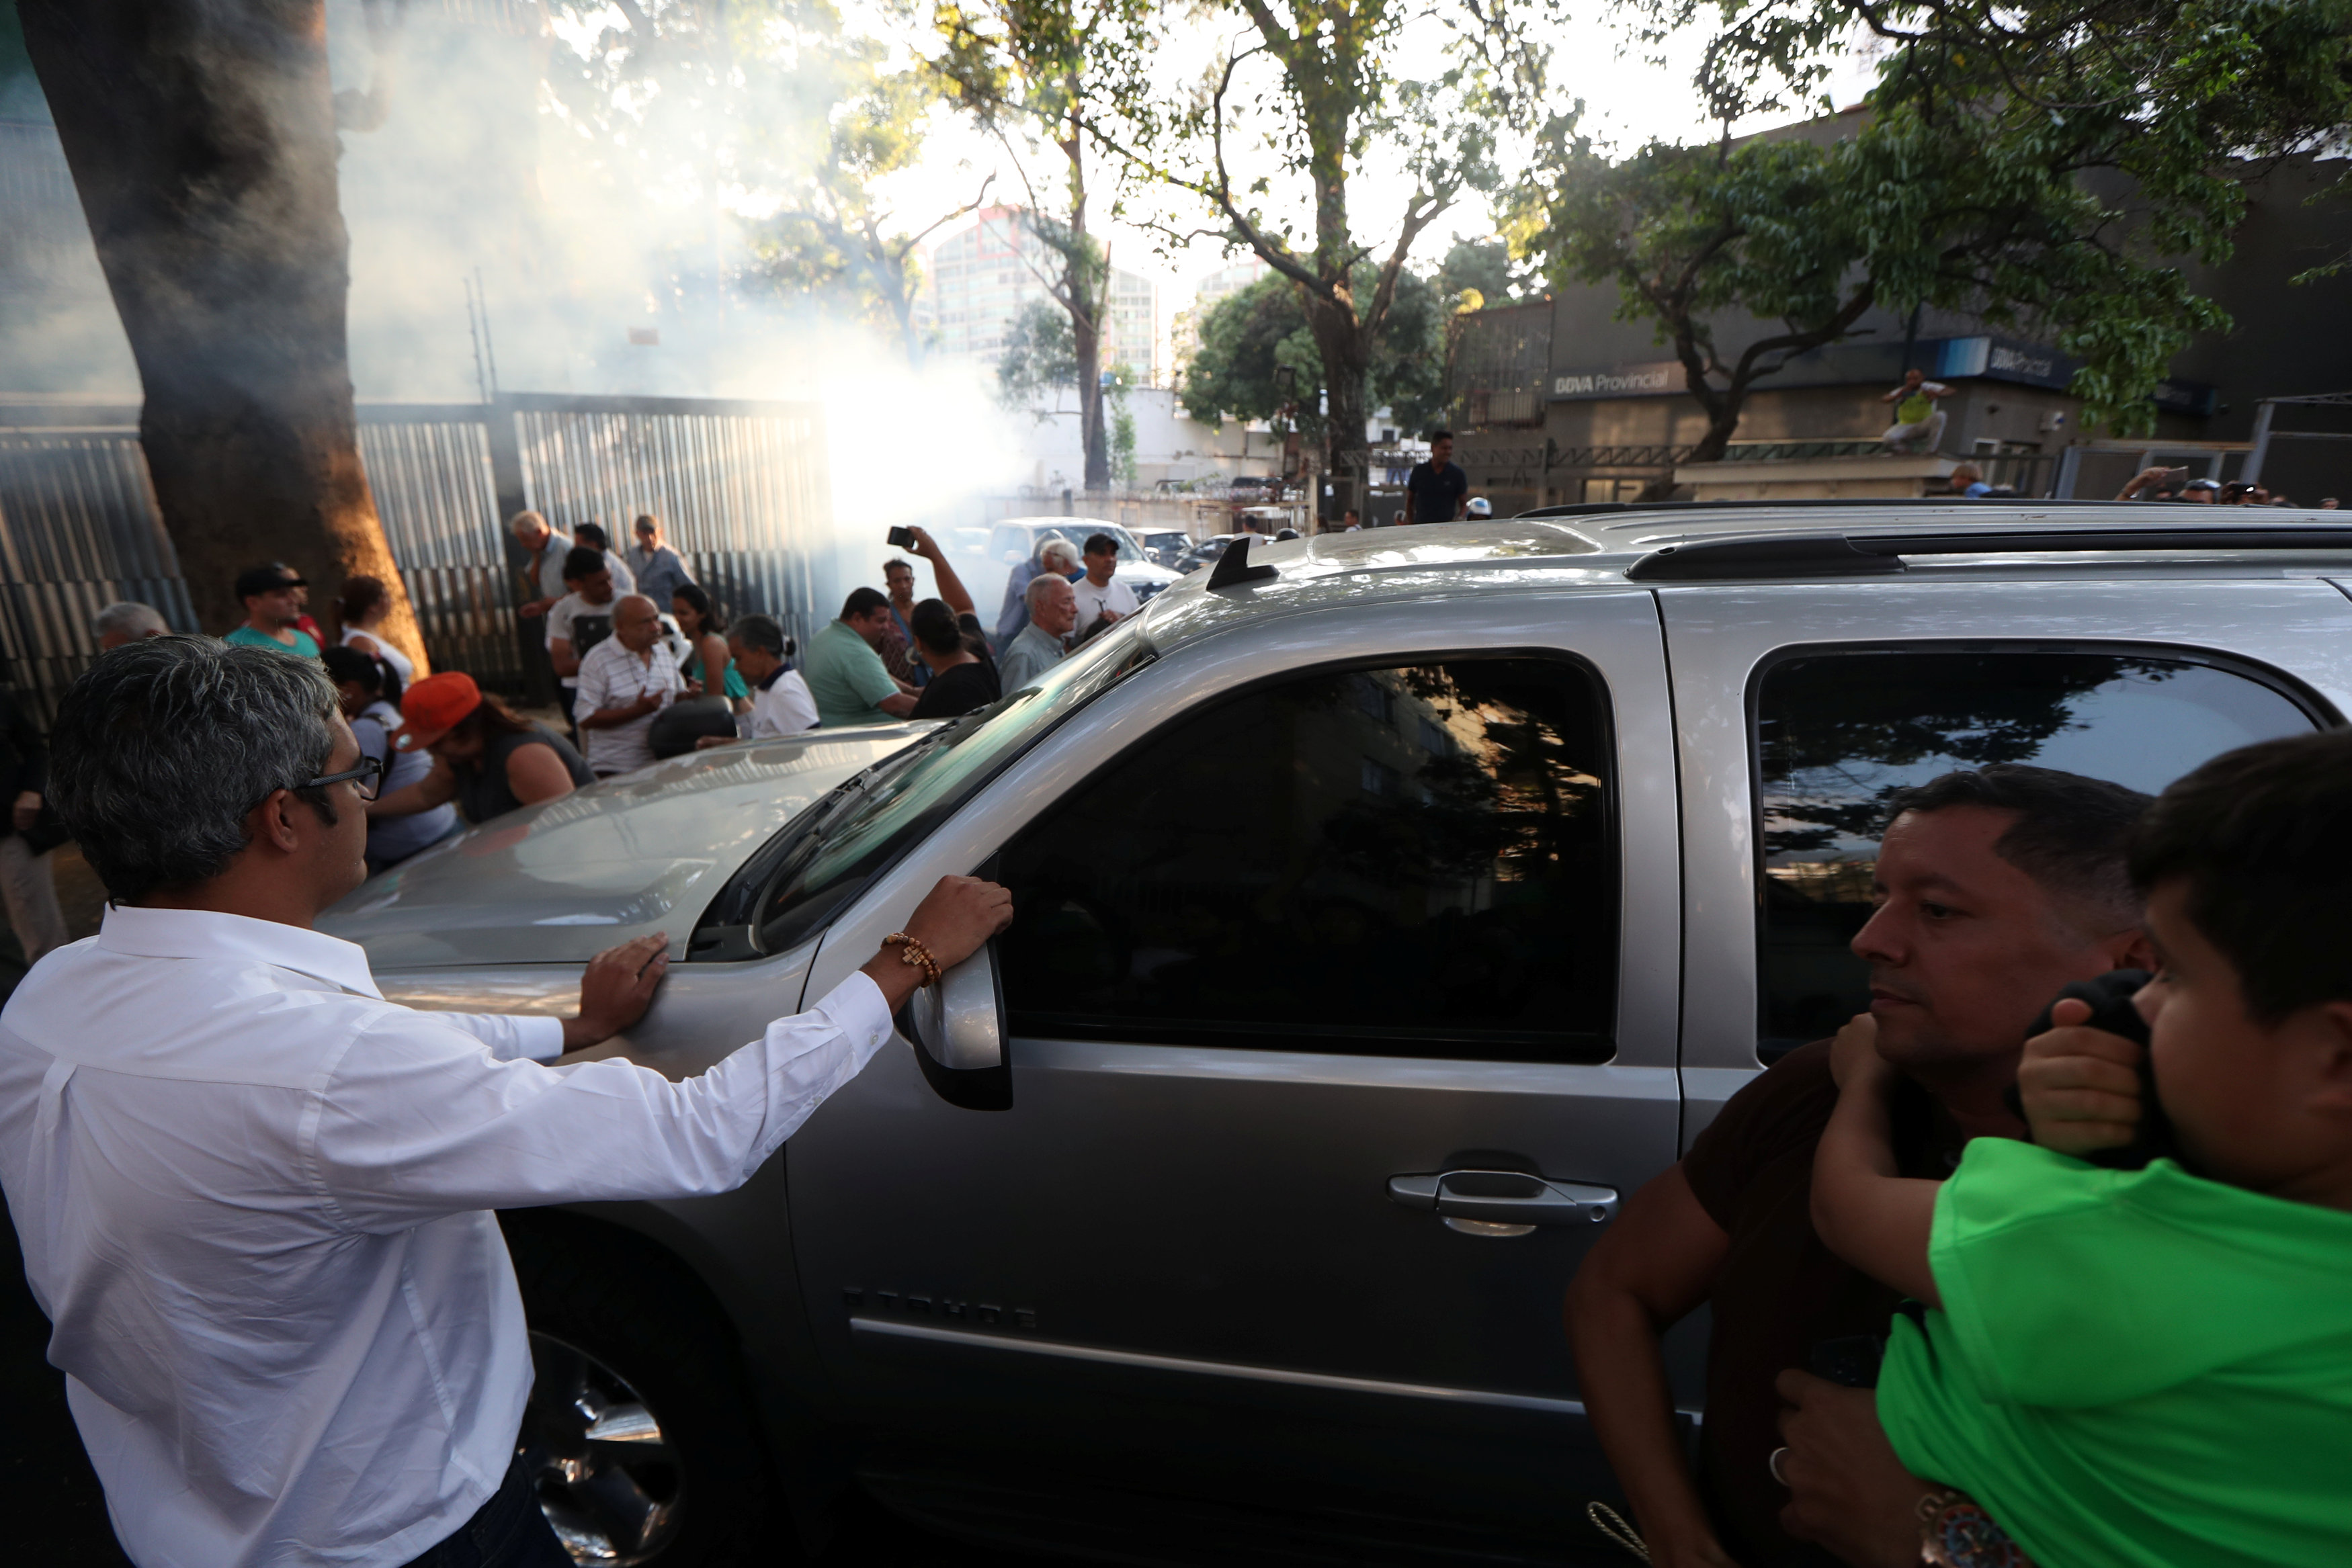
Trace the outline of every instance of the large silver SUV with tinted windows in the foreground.
{"label": "large silver SUV with tinted windows in the foreground", "polygon": [[[2154,790],[2352,710],[2352,529],[2185,510],[1251,545],[993,710],[680,757],[372,879],[325,924],[414,1006],[564,1011],[666,933],[600,1051],[673,1079],[941,875],[1014,893],[741,1192],[506,1215],[548,1509],[663,1568],[851,1479],[1122,1561],[1571,1559],[1613,1488],[1562,1288],[1759,1051],[1865,1004],[1884,792]],[[1700,1331],[1668,1347],[1696,1420]]]}

